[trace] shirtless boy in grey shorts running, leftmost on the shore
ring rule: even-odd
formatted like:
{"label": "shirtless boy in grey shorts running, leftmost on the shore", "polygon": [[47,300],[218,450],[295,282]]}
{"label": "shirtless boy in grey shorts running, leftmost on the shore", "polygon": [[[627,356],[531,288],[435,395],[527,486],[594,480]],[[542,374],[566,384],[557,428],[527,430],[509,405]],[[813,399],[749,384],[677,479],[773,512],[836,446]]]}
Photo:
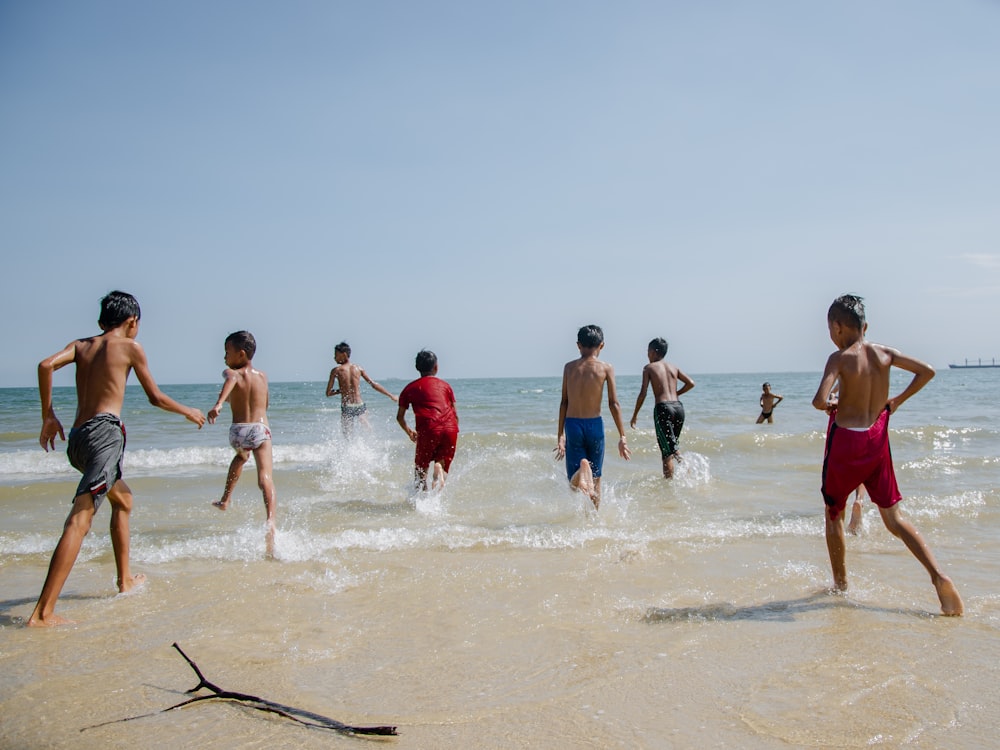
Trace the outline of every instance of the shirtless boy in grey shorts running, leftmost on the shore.
{"label": "shirtless boy in grey shorts running, leftmost on the shore", "polygon": [[48,451],[55,449],[56,435],[65,440],[63,426],[52,408],[52,373],[70,363],[76,364],[76,417],[69,433],[66,453],[83,478],[73,498],[73,509],[63,526],[62,536],[52,553],[49,571],[42,585],[28,625],[62,625],[67,620],[55,614],[56,600],[69,577],[83,538],[90,531],[94,514],[104,495],[111,504],[111,545],[118,571],[118,591],[125,593],[145,580],[129,571],[129,514],[132,491],[122,479],[125,453],[125,426],[121,421],[125,383],[135,371],[149,402],[160,409],[184,416],[198,425],[204,415],[174,401],[156,385],[146,353],[135,340],[139,333],[139,303],[125,292],[110,292],[101,300],[98,336],[78,339],[62,351],[38,364],[38,392],[42,400],[42,432],[39,443]]}

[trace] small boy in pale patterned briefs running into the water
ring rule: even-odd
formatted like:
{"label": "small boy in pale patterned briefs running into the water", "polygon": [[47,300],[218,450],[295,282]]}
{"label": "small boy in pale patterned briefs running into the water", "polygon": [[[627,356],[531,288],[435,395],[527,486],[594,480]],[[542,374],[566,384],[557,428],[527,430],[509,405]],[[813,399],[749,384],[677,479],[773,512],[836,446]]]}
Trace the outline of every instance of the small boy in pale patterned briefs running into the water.
{"label": "small boy in pale patterned briefs running into the water", "polygon": [[226,369],[222,376],[226,379],[219,392],[219,398],[208,412],[208,421],[215,424],[222,405],[229,402],[233,413],[233,424],[229,428],[229,444],[236,451],[226,475],[226,488],[222,499],[212,505],[219,510],[229,507],[233,489],[243,473],[243,465],[253,452],[257,464],[257,486],[264,496],[267,513],[267,554],[274,554],[275,496],[272,477],[274,459],[271,455],[271,428],[267,424],[269,401],[267,374],[254,368],[253,355],[257,353],[257,342],[249,331],[237,331],[226,337]]}

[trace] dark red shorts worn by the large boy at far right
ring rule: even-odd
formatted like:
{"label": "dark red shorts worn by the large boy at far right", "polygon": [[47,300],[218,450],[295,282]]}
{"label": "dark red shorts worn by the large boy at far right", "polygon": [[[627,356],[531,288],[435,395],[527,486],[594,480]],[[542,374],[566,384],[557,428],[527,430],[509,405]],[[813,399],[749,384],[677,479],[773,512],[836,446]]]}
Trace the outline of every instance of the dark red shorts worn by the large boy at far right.
{"label": "dark red shorts worn by the large boy at far right", "polygon": [[864,431],[841,427],[835,420],[832,414],[823,458],[823,502],[829,506],[830,518],[840,515],[847,498],[862,484],[880,508],[902,500],[889,450],[889,410]]}

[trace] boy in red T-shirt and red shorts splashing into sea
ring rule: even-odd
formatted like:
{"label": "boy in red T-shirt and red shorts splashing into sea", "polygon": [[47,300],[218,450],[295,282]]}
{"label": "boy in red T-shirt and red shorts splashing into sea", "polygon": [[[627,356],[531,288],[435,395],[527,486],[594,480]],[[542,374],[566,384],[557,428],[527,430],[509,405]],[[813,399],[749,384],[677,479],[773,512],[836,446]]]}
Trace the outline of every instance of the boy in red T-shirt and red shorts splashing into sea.
{"label": "boy in red T-shirt and red shorts splashing into sea", "polygon": [[[426,349],[416,357],[420,377],[409,383],[399,394],[396,421],[403,432],[417,444],[413,456],[414,481],[427,489],[431,474],[431,489],[444,487],[445,479],[455,458],[458,443],[458,412],[451,386],[437,377],[437,355]],[[413,406],[416,430],[406,424],[406,410]]]}

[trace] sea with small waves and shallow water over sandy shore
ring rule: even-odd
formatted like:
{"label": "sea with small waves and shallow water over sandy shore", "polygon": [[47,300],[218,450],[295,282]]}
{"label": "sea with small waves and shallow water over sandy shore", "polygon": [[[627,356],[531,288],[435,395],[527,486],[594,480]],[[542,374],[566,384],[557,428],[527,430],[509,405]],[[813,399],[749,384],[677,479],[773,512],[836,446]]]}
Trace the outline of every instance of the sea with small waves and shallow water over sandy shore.
{"label": "sea with small waves and shallow water over sandy shore", "polygon": [[[1000,369],[940,371],[890,422],[903,507],[962,618],[938,616],[870,503],[850,589],[829,592],[818,372],[692,376],[670,482],[651,399],[628,463],[605,408],[596,513],[553,459],[558,377],[450,381],[458,452],[430,494],[409,487],[391,401],[366,388],[371,429],[348,441],[325,383],[272,383],[273,560],[252,461],[230,509],[211,505],[228,409],[198,430],[130,386],[132,569],[148,581],[116,594],[105,504],[57,607],[76,624],[44,631],[22,625],[78,474],[64,444],[38,445],[37,391],[0,389],[0,747],[371,741],[231,702],[159,713],[198,682],[173,643],[222,689],[397,726],[381,741],[400,748],[993,747]],[[756,425],[764,380],[784,401]],[[219,387],[162,386],[204,411]],[[639,378],[618,387],[627,424]],[[68,430],[73,390],[55,402]]]}

